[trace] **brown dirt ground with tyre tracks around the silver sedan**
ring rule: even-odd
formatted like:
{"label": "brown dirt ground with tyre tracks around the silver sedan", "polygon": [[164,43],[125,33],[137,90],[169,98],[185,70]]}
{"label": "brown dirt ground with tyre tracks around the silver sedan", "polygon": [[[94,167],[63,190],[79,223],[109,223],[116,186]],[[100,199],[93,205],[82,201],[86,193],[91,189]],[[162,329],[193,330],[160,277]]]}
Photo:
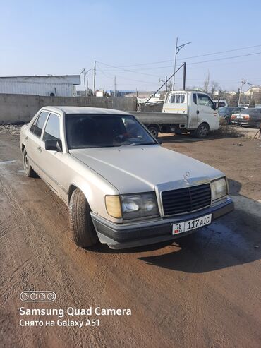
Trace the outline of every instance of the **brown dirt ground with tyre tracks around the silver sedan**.
{"label": "brown dirt ground with tyre tracks around the silver sedan", "polygon": [[[261,347],[261,141],[162,139],[225,172],[236,210],[171,245],[111,251],[75,247],[66,206],[23,173],[18,132],[0,133],[2,347]],[[56,292],[26,308],[132,315],[94,316],[99,327],[21,327],[23,290]]]}

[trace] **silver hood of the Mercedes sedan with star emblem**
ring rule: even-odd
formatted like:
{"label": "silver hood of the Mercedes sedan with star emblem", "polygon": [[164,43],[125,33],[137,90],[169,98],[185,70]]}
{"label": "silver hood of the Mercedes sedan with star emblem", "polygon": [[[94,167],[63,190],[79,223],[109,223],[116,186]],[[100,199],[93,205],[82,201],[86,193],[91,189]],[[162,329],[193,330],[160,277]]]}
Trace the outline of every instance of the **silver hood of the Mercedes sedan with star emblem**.
{"label": "silver hood of the Mercedes sedan with star emblem", "polygon": [[69,151],[103,176],[119,193],[186,187],[224,176],[219,170],[160,145]]}

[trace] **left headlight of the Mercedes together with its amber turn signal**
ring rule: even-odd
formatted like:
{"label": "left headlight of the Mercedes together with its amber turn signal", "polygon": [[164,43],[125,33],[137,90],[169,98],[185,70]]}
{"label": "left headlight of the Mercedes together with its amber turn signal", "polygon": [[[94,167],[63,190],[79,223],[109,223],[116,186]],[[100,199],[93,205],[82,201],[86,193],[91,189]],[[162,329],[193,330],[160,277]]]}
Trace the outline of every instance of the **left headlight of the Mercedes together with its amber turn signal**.
{"label": "left headlight of the Mercedes together with its amber turn signal", "polygon": [[155,193],[140,193],[122,196],[106,196],[105,205],[109,215],[116,218],[135,219],[159,215]]}

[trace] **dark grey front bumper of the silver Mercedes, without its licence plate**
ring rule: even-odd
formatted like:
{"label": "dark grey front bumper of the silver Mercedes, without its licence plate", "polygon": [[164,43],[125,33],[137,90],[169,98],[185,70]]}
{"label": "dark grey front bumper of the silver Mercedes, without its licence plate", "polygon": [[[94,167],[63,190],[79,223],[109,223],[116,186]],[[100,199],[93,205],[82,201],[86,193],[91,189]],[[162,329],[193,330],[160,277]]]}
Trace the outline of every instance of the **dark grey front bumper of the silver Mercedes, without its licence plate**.
{"label": "dark grey front bumper of the silver Mercedes, without its licence plate", "polygon": [[212,214],[212,220],[233,211],[233,201],[227,198],[225,202],[214,207],[202,209],[198,212],[188,213],[175,217],[157,218],[157,220],[146,220],[142,222],[129,222],[116,224],[91,212],[92,222],[95,225],[97,236],[101,243],[106,243],[110,248],[123,249],[133,246],[154,244],[160,241],[171,241],[181,236],[191,234],[196,230],[190,230],[173,236],[171,226],[174,223],[196,219],[204,215]]}

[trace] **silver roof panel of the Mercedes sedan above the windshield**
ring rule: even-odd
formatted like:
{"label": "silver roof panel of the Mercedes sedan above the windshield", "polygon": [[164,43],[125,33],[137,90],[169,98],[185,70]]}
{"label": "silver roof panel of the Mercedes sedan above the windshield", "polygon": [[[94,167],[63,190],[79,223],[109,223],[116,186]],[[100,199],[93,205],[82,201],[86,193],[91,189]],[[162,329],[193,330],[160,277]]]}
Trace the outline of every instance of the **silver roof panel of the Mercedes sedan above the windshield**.
{"label": "silver roof panel of the Mercedes sedan above the windshield", "polygon": [[44,110],[49,112],[64,112],[64,114],[113,114],[113,115],[129,115],[128,112],[121,110],[105,109],[102,107],[66,107],[66,106],[55,106],[55,107],[43,107]]}

